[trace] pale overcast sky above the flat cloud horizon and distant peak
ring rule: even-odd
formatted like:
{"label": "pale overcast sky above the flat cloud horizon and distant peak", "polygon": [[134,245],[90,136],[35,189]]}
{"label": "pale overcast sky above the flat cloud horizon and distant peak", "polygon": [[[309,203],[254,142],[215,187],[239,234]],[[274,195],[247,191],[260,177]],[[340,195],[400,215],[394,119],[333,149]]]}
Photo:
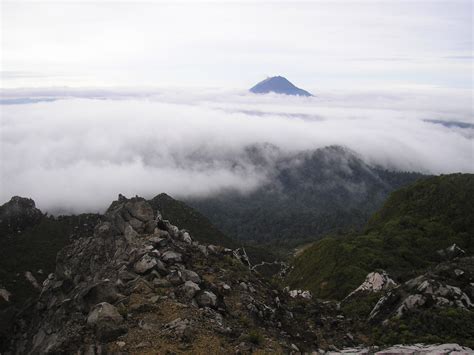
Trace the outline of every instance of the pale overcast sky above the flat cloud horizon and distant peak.
{"label": "pale overcast sky above the flat cloud horizon and distant peak", "polygon": [[472,82],[471,0],[1,4],[3,87]]}

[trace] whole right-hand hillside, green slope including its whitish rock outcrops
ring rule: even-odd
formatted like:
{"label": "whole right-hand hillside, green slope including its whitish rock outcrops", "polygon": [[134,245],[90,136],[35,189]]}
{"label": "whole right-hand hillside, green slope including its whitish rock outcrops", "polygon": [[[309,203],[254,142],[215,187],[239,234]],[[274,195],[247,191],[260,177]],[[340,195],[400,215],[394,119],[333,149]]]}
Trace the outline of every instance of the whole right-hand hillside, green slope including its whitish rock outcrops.
{"label": "whole right-hand hillside, green slope including its whitish rock outcrops", "polygon": [[363,234],[306,248],[286,281],[341,299],[372,343],[472,347],[473,231],[474,175],[424,179],[394,192]]}

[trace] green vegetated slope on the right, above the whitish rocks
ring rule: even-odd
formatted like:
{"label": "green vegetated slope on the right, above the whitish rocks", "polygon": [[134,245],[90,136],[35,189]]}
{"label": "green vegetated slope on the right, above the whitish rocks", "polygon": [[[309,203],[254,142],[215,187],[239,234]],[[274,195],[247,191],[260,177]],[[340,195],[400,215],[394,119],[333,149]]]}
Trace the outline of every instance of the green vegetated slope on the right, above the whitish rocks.
{"label": "green vegetated slope on the right, above the whitish rocks", "polygon": [[420,180],[391,194],[362,234],[330,236],[293,261],[287,281],[317,297],[342,299],[375,270],[407,280],[456,243],[474,252],[474,175]]}

